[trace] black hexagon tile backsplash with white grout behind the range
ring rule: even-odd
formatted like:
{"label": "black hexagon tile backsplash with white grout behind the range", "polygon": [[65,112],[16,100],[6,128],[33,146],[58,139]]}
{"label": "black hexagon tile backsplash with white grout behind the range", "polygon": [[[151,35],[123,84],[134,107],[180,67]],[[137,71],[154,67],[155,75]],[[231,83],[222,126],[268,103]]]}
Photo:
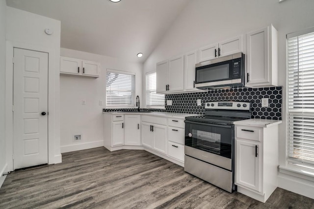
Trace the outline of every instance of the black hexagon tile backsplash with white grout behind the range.
{"label": "black hexagon tile backsplash with white grout behind the range", "polygon": [[[262,98],[268,99],[268,107],[262,107]],[[202,105],[197,106],[197,99]],[[282,87],[219,89],[201,93],[180,93],[165,95],[166,112],[205,114],[204,103],[210,101],[243,101],[252,103],[252,118],[282,119]]]}

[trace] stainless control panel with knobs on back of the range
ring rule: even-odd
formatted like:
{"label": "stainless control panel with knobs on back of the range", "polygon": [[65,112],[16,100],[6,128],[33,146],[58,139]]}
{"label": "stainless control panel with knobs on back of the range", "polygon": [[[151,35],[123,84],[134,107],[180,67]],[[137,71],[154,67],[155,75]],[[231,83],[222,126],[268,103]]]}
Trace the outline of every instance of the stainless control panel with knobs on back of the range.
{"label": "stainless control panel with knobs on back of the range", "polygon": [[217,110],[250,110],[250,102],[235,102],[235,101],[220,101],[220,102],[206,102],[205,109]]}

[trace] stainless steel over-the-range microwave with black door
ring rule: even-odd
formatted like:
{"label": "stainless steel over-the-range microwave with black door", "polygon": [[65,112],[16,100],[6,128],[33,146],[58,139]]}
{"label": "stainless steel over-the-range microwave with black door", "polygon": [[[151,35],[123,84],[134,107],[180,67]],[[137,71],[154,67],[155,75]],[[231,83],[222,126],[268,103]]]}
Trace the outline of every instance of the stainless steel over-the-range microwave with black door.
{"label": "stainless steel over-the-range microwave with black door", "polygon": [[198,89],[243,87],[245,55],[241,52],[195,65],[195,87]]}

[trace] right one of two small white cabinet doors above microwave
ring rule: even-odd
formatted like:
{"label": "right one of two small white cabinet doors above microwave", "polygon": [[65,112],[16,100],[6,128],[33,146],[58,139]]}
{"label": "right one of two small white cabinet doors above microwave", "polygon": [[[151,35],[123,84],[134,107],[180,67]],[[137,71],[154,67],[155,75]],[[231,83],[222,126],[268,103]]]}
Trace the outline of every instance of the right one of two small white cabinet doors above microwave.
{"label": "right one of two small white cabinet doors above microwave", "polygon": [[233,39],[220,42],[218,46],[218,55],[220,57],[227,56],[230,54],[243,52],[243,37],[238,36]]}

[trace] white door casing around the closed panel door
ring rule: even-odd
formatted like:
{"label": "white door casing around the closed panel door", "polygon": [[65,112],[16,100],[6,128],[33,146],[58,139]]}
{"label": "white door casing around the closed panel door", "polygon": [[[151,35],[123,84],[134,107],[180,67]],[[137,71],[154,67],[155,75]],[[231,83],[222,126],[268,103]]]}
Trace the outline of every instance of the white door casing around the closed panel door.
{"label": "white door casing around the closed panel door", "polygon": [[[37,46],[23,42],[6,41],[6,70],[5,70],[5,138],[7,172],[13,171],[13,48],[42,51],[48,53],[48,164],[56,163],[55,155],[60,155],[60,127],[59,127],[59,63],[58,52],[53,47]],[[57,163],[61,163],[58,160]]]}

